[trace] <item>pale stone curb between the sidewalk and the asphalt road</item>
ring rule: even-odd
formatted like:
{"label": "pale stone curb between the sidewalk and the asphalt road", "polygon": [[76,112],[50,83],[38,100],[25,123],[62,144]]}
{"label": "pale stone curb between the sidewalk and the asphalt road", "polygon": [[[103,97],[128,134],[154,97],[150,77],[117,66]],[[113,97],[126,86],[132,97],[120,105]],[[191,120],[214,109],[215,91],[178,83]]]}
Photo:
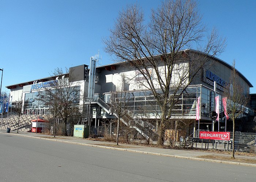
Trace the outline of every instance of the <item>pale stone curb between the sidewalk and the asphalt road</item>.
{"label": "pale stone curb between the sidewalk and the asphalt road", "polygon": [[[103,148],[103,149],[112,149],[112,150],[119,150],[119,151],[128,151],[128,152],[135,152],[135,153],[141,153],[141,154],[150,154],[150,155],[160,155],[160,156],[174,157],[174,158],[181,158],[181,159],[191,159],[191,160],[195,160],[195,161],[205,161],[205,162],[215,162],[215,163],[223,163],[223,164],[233,164],[233,165],[240,165],[240,166],[256,167],[256,164],[250,164],[250,163],[231,162],[231,161],[220,161],[220,160],[214,160],[214,159],[204,159],[204,158],[187,157],[187,156],[181,156],[181,155],[161,154],[161,153],[153,153],[153,152],[138,151],[138,150],[131,150],[131,149],[122,149],[122,148],[101,146],[101,145],[88,144],[88,143],[69,142],[69,141],[65,141],[65,140],[61,140],[61,139],[51,139],[51,138],[35,137],[35,136],[29,136],[29,135],[18,134],[18,133],[17,133],[17,134],[16,134],[16,133],[9,133],[9,134],[12,134],[12,135],[19,135],[19,136],[22,136],[22,137],[44,139],[44,140],[49,140],[49,141],[70,143],[70,144],[75,144],[75,145],[83,145],[83,146],[98,147],[98,148]],[[63,138],[63,139],[65,139],[65,138]]]}

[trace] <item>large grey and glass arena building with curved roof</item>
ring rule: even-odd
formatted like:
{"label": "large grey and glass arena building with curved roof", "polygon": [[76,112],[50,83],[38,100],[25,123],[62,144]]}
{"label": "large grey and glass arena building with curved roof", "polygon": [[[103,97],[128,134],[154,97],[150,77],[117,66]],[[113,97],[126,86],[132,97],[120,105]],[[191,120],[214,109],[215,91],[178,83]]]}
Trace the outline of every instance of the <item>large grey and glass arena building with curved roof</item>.
{"label": "large grey and glass arena building with curved roof", "polygon": [[[197,54],[200,52],[195,50],[185,50],[186,55]],[[161,56],[156,56],[161,58]],[[185,89],[181,94],[179,102],[172,111],[170,119],[190,119],[195,122],[189,127],[189,132],[195,131],[195,128],[200,130],[211,130],[212,119],[210,118],[211,111],[214,111],[214,98],[219,95],[219,122],[215,122],[215,130],[231,131],[232,124],[228,120],[226,126],[225,115],[223,114],[222,95],[226,84],[229,83],[230,74],[233,67],[221,59],[209,57],[208,62],[204,65],[198,77]],[[77,87],[77,92],[81,98],[77,104],[80,107],[87,108],[84,111],[84,118],[90,126],[100,126],[103,120],[116,118],[117,115],[111,110],[110,98],[117,92],[122,92],[123,96],[127,97],[125,108],[129,111],[130,118],[137,119],[136,130],[146,133],[142,126],[138,123],[145,118],[150,119],[147,125],[150,125],[149,130],[157,130],[156,122],[159,116],[159,106],[155,102],[152,92],[141,84],[143,75],[128,62],[119,62],[108,64],[105,66],[96,66],[97,60],[91,59],[90,70],[89,66],[81,65],[69,68],[76,75],[74,85]],[[189,66],[189,64],[187,65]],[[149,68],[150,69],[150,68]],[[182,70],[185,72],[186,70]],[[240,85],[244,88],[244,94],[249,95],[250,87],[253,87],[248,79],[245,78],[238,70]],[[154,76],[154,71],[149,70],[151,76]],[[189,74],[189,73],[188,73]],[[163,76],[163,75],[162,75]],[[22,99],[23,113],[27,115],[33,114],[49,114],[49,106],[44,103],[38,103],[37,97],[39,91],[44,91],[45,88],[54,88],[54,83],[59,79],[67,78],[68,74],[50,76],[46,78],[31,80],[7,86],[10,89],[13,105],[20,102]],[[216,92],[214,92],[214,81],[216,82]],[[155,83],[158,84],[157,82]],[[159,90],[159,94],[161,94]],[[200,96],[200,116],[199,121],[196,121],[196,104],[197,98]],[[248,108],[247,115],[252,113]],[[140,122],[138,122],[138,120]],[[126,122],[124,119],[123,122]],[[145,123],[144,123],[145,124]],[[209,127],[210,125],[210,127]],[[225,128],[226,127],[226,128]]]}

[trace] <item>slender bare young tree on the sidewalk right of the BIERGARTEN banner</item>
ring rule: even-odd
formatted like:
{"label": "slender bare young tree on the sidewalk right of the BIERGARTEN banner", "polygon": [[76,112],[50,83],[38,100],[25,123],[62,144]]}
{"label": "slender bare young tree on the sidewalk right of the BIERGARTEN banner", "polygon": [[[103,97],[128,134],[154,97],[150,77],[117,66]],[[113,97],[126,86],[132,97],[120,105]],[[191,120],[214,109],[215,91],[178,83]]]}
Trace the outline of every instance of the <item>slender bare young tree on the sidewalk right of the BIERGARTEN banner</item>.
{"label": "slender bare young tree on the sidewalk right of the BIERGARTEN banner", "polygon": [[235,60],[233,62],[233,70],[230,75],[229,85],[225,91],[225,96],[227,97],[227,112],[230,119],[233,121],[232,158],[235,158],[235,121],[241,116],[241,114],[245,112],[246,106],[248,106],[249,103],[249,96],[244,90],[244,87],[242,87],[239,80],[239,75],[235,69]]}

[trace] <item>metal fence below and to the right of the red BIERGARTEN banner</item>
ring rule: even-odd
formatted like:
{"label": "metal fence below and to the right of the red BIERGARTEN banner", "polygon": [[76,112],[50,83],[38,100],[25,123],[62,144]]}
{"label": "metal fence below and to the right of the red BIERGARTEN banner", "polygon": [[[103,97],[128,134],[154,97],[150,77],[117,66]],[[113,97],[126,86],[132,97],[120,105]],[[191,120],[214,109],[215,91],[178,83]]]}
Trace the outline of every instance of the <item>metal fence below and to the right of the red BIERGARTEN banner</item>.
{"label": "metal fence below and to the right of the red BIERGARTEN banner", "polygon": [[[198,133],[198,132],[197,132]],[[198,136],[198,135],[197,135]],[[194,138],[192,147],[200,149],[214,149],[223,151],[233,150],[233,132],[230,132],[230,141]],[[236,152],[256,153],[256,133],[235,132],[234,150]]]}

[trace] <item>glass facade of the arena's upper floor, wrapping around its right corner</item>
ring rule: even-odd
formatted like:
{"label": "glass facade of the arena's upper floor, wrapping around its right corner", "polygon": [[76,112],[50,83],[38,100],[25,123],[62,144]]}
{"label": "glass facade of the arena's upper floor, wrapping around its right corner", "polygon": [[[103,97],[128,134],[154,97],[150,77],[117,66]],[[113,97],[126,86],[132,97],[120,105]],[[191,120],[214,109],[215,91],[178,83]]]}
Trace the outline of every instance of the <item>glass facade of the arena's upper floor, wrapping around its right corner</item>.
{"label": "glass facade of the arena's upper floor, wrapping around its right corner", "polygon": [[[158,93],[161,94],[161,91],[158,91]],[[172,91],[170,94],[172,94]],[[110,96],[111,94],[103,94],[101,99],[108,103],[110,102]],[[209,117],[210,112],[215,110],[214,91],[205,86],[192,86],[186,88],[186,90],[181,94],[181,97],[178,100],[176,99],[177,103],[173,107],[172,115],[195,116],[197,98],[199,96],[201,98],[200,115]],[[122,97],[126,98],[125,107],[137,116],[157,117],[161,114],[160,107],[151,91],[124,92]],[[219,113],[223,111],[221,95],[219,95],[219,110]],[[106,113],[104,111],[101,112],[101,115],[105,114]]]}

